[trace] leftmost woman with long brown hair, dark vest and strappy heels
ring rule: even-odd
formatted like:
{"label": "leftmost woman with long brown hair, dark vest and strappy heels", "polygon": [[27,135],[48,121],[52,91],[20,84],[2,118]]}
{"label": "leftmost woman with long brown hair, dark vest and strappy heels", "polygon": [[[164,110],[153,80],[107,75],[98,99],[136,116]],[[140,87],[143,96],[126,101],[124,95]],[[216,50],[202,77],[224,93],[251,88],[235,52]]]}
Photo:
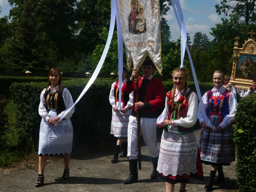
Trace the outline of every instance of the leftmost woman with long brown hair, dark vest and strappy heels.
{"label": "leftmost woman with long brown hair, dark vest and strappy heels", "polygon": [[[39,166],[36,187],[44,184],[44,168],[48,155],[63,154],[64,172],[61,180],[69,178],[69,162],[72,152],[73,127],[70,117],[75,111],[69,90],[63,88],[58,68],[52,68],[48,74],[48,87],[40,95],[39,114],[42,117],[39,132]],[[65,114],[65,118],[60,120]],[[60,121],[59,121],[60,120]]]}

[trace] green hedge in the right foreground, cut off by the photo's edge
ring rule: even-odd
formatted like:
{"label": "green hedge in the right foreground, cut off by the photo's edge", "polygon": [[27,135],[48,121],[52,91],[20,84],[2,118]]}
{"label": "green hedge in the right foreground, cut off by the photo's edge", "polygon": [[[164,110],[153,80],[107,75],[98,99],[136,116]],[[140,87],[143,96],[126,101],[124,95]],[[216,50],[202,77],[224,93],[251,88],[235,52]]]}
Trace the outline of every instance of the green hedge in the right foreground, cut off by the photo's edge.
{"label": "green hedge in the right foreground, cut off by the photo's edge", "polygon": [[239,100],[234,125],[239,192],[256,191],[256,93]]}

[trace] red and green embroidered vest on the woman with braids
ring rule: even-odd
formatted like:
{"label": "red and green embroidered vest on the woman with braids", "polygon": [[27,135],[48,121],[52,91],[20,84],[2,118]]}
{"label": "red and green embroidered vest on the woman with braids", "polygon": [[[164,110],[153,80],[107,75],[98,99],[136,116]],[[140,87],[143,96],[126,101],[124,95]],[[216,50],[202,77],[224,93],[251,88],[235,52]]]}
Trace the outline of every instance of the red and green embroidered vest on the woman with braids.
{"label": "red and green embroidered vest on the woman with braids", "polygon": [[[169,91],[166,93],[166,96],[168,98],[169,103],[169,117],[167,119],[169,120],[179,120],[181,117],[185,118],[187,117],[187,111],[188,111],[188,100],[191,95],[191,93],[194,93],[191,89],[189,89],[188,93],[186,94],[187,103],[181,102],[181,104],[178,106],[178,108],[174,109],[172,108],[171,98],[172,98],[172,91]],[[175,106],[178,105],[178,102],[174,102]],[[164,130],[168,132],[169,125],[167,127],[164,127]],[[190,133],[194,131],[193,127],[185,128],[182,126],[177,126],[178,133]]]}

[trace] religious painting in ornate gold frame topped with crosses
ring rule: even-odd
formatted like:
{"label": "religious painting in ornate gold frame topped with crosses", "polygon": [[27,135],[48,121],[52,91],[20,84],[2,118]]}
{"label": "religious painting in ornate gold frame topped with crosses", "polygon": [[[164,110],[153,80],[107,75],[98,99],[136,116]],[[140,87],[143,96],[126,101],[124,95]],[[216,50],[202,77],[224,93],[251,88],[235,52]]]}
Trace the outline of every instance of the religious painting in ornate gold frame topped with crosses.
{"label": "religious painting in ornate gold frame topped with crosses", "polygon": [[242,90],[251,87],[252,81],[256,79],[256,43],[253,39],[255,32],[251,30],[248,34],[251,38],[245,41],[242,48],[238,48],[239,37],[236,37],[230,78],[230,83],[234,84],[236,89]]}

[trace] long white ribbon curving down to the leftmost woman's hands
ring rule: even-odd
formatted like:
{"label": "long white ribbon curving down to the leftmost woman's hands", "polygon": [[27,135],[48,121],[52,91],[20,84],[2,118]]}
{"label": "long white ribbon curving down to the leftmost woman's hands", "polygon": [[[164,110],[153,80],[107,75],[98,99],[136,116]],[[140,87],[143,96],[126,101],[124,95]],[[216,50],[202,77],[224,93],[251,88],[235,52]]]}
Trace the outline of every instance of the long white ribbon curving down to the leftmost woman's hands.
{"label": "long white ribbon curving down to the leftmost woman's hands", "polygon": [[[114,32],[114,26],[115,26],[115,17],[116,17],[116,11],[117,11],[117,2],[116,0],[111,0],[111,18],[110,18],[110,27],[109,27],[109,32],[108,32],[108,39],[104,48],[104,51],[102,53],[102,56],[99,60],[99,63],[95,69],[95,71],[93,72],[92,77],[90,78],[90,80],[88,81],[87,85],[85,86],[84,90],[82,91],[82,93],[80,94],[80,96],[78,97],[78,99],[76,100],[76,102],[71,106],[71,108],[69,108],[65,114],[63,114],[62,118],[60,120],[62,120],[63,118],[65,118],[66,114],[69,113],[69,111],[74,108],[74,106],[78,103],[78,101],[80,101],[80,99],[84,96],[84,94],[87,92],[87,90],[91,87],[91,85],[93,84],[93,82],[96,80],[97,76],[99,75],[100,69],[102,68],[102,65],[105,61],[105,58],[107,56],[108,53],[108,49],[111,43],[111,39],[113,36],[113,32]],[[122,82],[122,81],[121,81]],[[59,120],[59,121],[60,121]]]}

